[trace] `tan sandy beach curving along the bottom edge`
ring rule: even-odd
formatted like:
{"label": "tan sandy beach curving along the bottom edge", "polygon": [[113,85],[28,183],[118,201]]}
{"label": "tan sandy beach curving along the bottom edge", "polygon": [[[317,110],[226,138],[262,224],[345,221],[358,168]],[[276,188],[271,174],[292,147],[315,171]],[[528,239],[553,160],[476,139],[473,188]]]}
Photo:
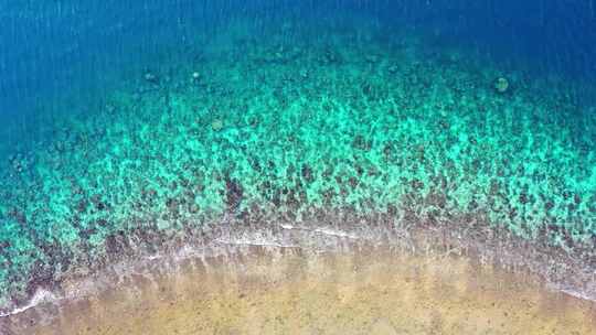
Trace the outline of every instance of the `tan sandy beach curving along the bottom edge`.
{"label": "tan sandy beach curving along the bottom edge", "polygon": [[28,332],[596,334],[596,304],[449,253],[249,247],[136,277]]}

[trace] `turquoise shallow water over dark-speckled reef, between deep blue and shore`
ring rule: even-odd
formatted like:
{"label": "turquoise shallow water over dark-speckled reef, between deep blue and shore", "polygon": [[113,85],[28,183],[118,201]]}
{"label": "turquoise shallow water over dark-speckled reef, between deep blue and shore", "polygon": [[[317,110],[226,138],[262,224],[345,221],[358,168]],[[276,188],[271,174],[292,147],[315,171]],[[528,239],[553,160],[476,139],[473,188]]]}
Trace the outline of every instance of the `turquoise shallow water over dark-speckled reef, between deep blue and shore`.
{"label": "turquoise shallow water over dark-speckled reef, between deep blue and shore", "polygon": [[35,116],[39,137],[11,133],[3,311],[223,221],[329,213],[499,231],[594,271],[596,109],[575,96],[594,87],[360,21],[251,26],[166,48],[97,101]]}

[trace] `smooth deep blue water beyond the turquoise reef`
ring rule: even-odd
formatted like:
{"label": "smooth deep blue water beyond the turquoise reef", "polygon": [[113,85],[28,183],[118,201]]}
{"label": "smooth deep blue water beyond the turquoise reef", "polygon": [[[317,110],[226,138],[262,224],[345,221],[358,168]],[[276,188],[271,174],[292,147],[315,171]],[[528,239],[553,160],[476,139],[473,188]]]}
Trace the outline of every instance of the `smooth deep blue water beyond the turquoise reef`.
{"label": "smooth deep blue water beyond the turquoise reef", "polygon": [[530,60],[541,72],[594,79],[595,8],[594,0],[3,1],[0,108],[2,115],[21,114],[40,94],[55,97],[76,85],[99,89],[106,71],[138,65],[158,45],[182,48],[193,34],[213,32],[238,14],[262,24],[288,13],[330,18],[352,10],[503,62]]}

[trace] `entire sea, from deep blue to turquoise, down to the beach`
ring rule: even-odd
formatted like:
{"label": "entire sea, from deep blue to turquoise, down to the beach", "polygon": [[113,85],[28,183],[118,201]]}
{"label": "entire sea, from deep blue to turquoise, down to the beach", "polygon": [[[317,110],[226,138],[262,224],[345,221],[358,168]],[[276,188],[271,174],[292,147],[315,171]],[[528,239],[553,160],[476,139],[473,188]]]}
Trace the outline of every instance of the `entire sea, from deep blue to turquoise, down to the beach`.
{"label": "entire sea, from deep blue to turquoise, down to the beach", "polygon": [[222,227],[435,231],[596,300],[595,1],[296,2],[0,3],[3,320]]}

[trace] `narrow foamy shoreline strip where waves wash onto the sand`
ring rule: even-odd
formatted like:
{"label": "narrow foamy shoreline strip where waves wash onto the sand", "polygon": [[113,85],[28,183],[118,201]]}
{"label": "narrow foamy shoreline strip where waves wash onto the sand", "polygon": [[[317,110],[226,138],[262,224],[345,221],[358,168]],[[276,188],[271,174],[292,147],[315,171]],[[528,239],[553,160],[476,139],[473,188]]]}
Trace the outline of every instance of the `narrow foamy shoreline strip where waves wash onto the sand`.
{"label": "narrow foamy shoreline strip where waves wash onto the sand", "polygon": [[[585,311],[596,311],[596,302],[594,300],[578,299],[581,295],[592,296],[590,294],[594,292],[586,292],[585,294],[579,291],[565,292],[562,289],[564,285],[557,287],[557,283],[550,282],[549,278],[543,277],[544,273],[532,272],[531,270],[535,270],[535,268],[531,267],[532,259],[528,258],[528,255],[528,255],[519,253],[523,248],[510,249],[505,252],[507,255],[502,255],[502,257],[509,257],[508,259],[498,259],[496,249],[489,250],[493,244],[468,240],[465,236],[460,235],[461,231],[451,230],[447,234],[447,231],[432,231],[423,227],[389,229],[382,225],[371,225],[369,229],[360,230],[368,233],[364,235],[359,233],[359,229],[363,227],[351,226],[351,229],[345,227],[348,226],[344,226],[343,229],[338,229],[333,226],[322,225],[280,225],[279,229],[275,231],[275,229],[266,230],[247,227],[238,229],[238,226],[232,224],[227,228],[222,228],[217,233],[214,233],[211,242],[204,242],[201,247],[198,247],[198,245],[194,247],[187,246],[173,253],[158,253],[138,258],[135,262],[124,261],[95,275],[91,275],[84,281],[72,281],[63,287],[64,295],[58,300],[58,303],[42,303],[17,315],[0,318],[0,329],[2,329],[1,326],[4,326],[7,329],[17,328],[19,332],[15,334],[46,334],[45,332],[50,328],[44,328],[44,333],[26,332],[35,329],[40,325],[40,321],[44,321],[41,324],[45,323],[45,326],[51,327],[52,325],[55,326],[56,321],[64,322],[72,318],[72,315],[76,315],[76,313],[72,314],[73,305],[81,306],[83,304],[85,306],[93,301],[103,301],[102,303],[105,303],[105,307],[107,309],[110,302],[109,300],[104,301],[103,299],[105,296],[111,296],[118,294],[118,292],[121,293],[123,290],[130,293],[138,289],[138,284],[155,284],[160,280],[163,281],[163,284],[169,281],[175,283],[180,279],[179,275],[187,279],[196,275],[199,278],[200,275],[206,275],[206,272],[203,274],[188,274],[185,272],[196,267],[204,269],[206,267],[205,264],[213,266],[212,270],[222,272],[222,275],[242,277],[246,274],[243,271],[251,268],[249,262],[259,259],[259,257],[263,259],[276,259],[277,257],[279,260],[289,253],[290,258],[304,258],[301,261],[308,262],[312,257],[317,258],[320,255],[350,258],[361,252],[361,250],[369,250],[369,252],[373,253],[377,250],[385,250],[392,253],[395,260],[419,258],[432,262],[440,259],[438,263],[446,262],[446,264],[449,264],[447,267],[449,269],[453,266],[450,263],[453,261],[456,263],[465,262],[468,267],[467,271],[475,273],[473,275],[478,275],[480,269],[489,269],[493,274],[501,273],[496,277],[496,281],[504,275],[509,280],[517,282],[517,284],[539,292],[536,293],[539,295],[557,296],[556,299],[565,301],[565,306],[568,304],[574,306],[581,305]],[[460,236],[462,238],[453,239],[454,236]],[[487,246],[487,248],[483,250],[475,249],[473,246],[478,246],[478,244]],[[518,252],[517,257],[511,257],[515,252]],[[371,257],[369,260],[372,264],[379,264],[380,258],[374,255],[369,257]],[[521,259],[528,262],[525,267],[519,263]],[[139,260],[141,261],[139,262]],[[361,259],[364,263],[365,260],[365,257]],[[553,258],[554,260],[555,258]],[[294,261],[298,260],[295,259]],[[391,262],[392,259],[385,258],[383,261]],[[226,264],[236,268],[230,269]],[[454,269],[457,269],[457,267],[455,266]],[[292,278],[288,275],[286,280],[291,282]],[[592,284],[594,285],[594,282]],[[93,311],[87,312],[93,313]],[[596,314],[593,315],[593,320],[596,321]],[[32,325],[35,325],[35,327],[32,328]]]}

